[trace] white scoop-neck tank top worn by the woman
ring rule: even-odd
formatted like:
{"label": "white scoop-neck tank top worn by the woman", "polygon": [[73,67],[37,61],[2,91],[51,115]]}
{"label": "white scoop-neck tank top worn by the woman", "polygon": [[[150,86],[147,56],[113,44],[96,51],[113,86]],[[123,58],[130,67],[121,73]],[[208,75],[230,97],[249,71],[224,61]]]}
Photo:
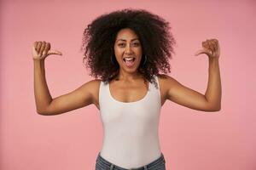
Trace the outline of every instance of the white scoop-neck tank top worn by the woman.
{"label": "white scoop-neck tank top worn by the woman", "polygon": [[125,103],[113,99],[109,83],[101,82],[99,105],[104,133],[100,154],[104,159],[119,167],[136,168],[160,157],[160,88],[149,82],[143,99]]}

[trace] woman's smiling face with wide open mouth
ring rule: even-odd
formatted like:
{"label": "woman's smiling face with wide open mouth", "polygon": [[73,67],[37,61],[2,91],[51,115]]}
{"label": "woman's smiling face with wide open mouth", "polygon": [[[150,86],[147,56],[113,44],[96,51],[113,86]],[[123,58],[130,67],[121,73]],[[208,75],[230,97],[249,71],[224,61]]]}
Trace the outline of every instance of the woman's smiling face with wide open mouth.
{"label": "woman's smiling face with wide open mouth", "polygon": [[114,42],[114,54],[121,70],[126,72],[137,71],[142,59],[143,49],[136,33],[130,28],[118,32]]}

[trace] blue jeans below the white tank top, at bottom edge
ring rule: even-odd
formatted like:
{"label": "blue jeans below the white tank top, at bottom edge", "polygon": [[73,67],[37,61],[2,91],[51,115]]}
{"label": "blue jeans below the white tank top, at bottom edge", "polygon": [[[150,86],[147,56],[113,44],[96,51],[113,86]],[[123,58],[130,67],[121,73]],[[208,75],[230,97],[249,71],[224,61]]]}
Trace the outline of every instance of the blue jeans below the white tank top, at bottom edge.
{"label": "blue jeans below the white tank top, at bottom edge", "polygon": [[166,170],[166,160],[163,153],[161,153],[161,156],[159,158],[152,161],[151,163],[148,163],[148,165],[133,169],[125,169],[123,167],[114,165],[110,161],[105,160],[101,156],[101,153],[99,153],[96,159],[96,170]]}

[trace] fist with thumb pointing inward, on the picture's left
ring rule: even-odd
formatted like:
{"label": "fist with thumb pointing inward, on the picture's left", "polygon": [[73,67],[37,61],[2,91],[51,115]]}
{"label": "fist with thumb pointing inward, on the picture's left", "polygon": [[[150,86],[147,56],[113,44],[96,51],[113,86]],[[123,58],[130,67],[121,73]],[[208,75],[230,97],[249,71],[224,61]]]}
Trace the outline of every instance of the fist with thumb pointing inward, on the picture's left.
{"label": "fist with thumb pointing inward, on the picture's left", "polygon": [[34,42],[32,46],[33,59],[45,59],[50,54],[62,55],[60,51],[50,49],[49,42]]}

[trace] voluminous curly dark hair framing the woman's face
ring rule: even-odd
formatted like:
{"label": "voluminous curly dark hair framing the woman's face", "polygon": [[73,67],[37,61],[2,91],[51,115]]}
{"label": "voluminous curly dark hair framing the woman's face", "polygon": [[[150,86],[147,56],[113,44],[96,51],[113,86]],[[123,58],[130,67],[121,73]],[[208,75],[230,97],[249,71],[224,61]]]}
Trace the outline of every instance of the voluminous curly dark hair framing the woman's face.
{"label": "voluminous curly dark hair framing the woman's face", "polygon": [[115,57],[111,62],[111,57],[114,55],[113,45],[117,33],[124,28],[130,28],[137,34],[142,43],[143,56],[147,55],[148,58],[143,65],[143,57],[138,71],[143,74],[144,80],[156,84],[154,75],[159,76],[160,71],[171,72],[168,59],[172,59],[176,42],[169,22],[144,9],[125,8],[102,14],[85,28],[82,50],[90,76],[100,77],[107,83],[118,75],[119,64]]}

